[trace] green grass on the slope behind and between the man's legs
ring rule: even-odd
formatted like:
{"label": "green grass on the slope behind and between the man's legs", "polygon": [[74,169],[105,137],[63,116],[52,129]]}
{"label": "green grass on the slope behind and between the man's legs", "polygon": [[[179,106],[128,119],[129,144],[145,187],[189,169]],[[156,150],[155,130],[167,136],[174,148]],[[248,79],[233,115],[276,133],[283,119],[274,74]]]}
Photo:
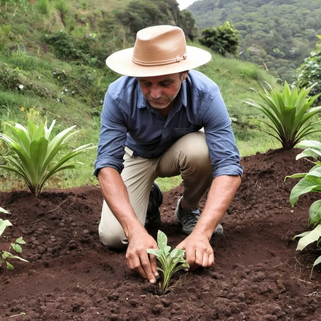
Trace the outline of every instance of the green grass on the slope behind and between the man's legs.
{"label": "green grass on the slope behind and between the man's legs", "polygon": [[[129,0],[98,0],[87,2],[85,6],[83,1],[68,3],[57,0],[55,6],[63,12],[66,12],[69,6],[68,15],[79,10],[82,14],[89,14],[92,13],[90,10],[99,8],[106,11],[121,8],[128,2]],[[39,4],[43,6],[42,9],[38,8],[37,11],[34,10],[35,7],[26,5],[23,11],[17,10],[14,17],[16,6],[8,5],[5,9],[4,5],[0,5],[0,31],[5,29],[4,34],[10,34],[10,37],[0,37],[0,131],[6,131],[5,122],[26,125],[28,117],[44,120],[47,116],[49,123],[56,119],[56,124],[61,130],[73,125],[81,129],[76,137],[78,142],[75,142],[75,146],[86,143],[97,145],[102,108],[99,97],[107,91],[108,85],[117,79],[117,75],[107,67],[97,69],[90,65],[77,65],[75,62],[67,63],[57,59],[50,48],[44,46],[43,37],[45,34],[59,31],[63,26],[59,19],[56,19],[54,8],[49,9],[46,15],[41,13],[47,11],[46,0],[39,0]],[[89,31],[83,29],[83,32],[86,34]],[[15,50],[9,50],[10,46]],[[216,54],[213,54],[210,63],[198,70],[218,84],[230,116],[237,118],[241,123],[245,123],[248,117],[259,114],[256,108],[239,101],[247,98],[258,99],[256,93],[249,88],[260,90],[260,81],[275,83],[275,78],[257,65]],[[53,72],[58,73],[56,77]],[[59,77],[66,77],[66,80],[62,81]],[[19,84],[24,86],[22,90],[19,90]],[[65,92],[65,89],[69,91]],[[72,91],[75,91],[74,95],[71,94]],[[242,127],[233,124],[233,130],[241,156],[280,147],[270,136],[250,129],[247,125]],[[321,139],[321,135],[315,135],[313,139]],[[0,143],[0,154],[4,155],[6,152],[5,146]],[[77,170],[57,173],[45,187],[98,185],[97,179],[93,176],[96,156],[95,151],[79,155],[75,161],[86,165]],[[167,191],[178,185],[181,179],[158,178],[157,181],[161,188]],[[0,184],[1,190],[25,188],[20,179],[4,170],[0,171]]]}

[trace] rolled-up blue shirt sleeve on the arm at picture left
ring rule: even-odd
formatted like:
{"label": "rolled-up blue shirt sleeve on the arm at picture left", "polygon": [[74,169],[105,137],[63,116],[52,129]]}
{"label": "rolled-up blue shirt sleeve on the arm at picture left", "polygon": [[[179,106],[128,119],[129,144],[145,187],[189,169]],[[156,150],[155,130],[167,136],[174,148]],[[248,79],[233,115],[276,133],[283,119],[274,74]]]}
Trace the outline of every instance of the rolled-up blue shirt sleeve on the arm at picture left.
{"label": "rolled-up blue shirt sleeve on the arm at picture left", "polygon": [[112,167],[119,173],[122,172],[126,134],[127,126],[124,115],[120,106],[107,91],[101,112],[101,128],[94,170],[96,177],[99,170],[104,167]]}

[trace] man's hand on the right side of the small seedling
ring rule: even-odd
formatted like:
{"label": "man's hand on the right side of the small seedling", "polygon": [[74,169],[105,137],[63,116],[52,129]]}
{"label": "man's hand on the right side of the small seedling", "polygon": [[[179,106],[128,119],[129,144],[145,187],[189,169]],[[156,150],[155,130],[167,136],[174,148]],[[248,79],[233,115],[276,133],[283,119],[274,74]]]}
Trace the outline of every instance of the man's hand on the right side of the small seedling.
{"label": "man's hand on the right side of the small seedling", "polygon": [[[183,242],[178,244],[177,248],[185,250],[190,271],[196,270],[200,266],[211,267],[214,263],[213,248],[204,234],[192,232]],[[184,270],[188,271],[186,268]]]}

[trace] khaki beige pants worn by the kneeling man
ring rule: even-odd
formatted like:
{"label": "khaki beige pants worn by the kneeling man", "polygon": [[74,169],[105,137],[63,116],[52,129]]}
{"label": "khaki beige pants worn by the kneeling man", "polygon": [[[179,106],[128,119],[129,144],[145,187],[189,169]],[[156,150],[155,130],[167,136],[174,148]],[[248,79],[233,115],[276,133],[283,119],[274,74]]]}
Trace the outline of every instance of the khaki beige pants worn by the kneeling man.
{"label": "khaki beige pants worn by the kneeling man", "polygon": [[[121,177],[127,187],[130,204],[137,218],[145,224],[149,194],[158,177],[172,177],[181,174],[183,197],[191,208],[197,208],[201,198],[213,181],[213,169],[204,132],[187,134],[175,142],[160,157],[146,159],[131,156],[125,148],[124,169]],[[103,202],[99,224],[100,241],[110,248],[125,248],[128,239],[123,228]]]}

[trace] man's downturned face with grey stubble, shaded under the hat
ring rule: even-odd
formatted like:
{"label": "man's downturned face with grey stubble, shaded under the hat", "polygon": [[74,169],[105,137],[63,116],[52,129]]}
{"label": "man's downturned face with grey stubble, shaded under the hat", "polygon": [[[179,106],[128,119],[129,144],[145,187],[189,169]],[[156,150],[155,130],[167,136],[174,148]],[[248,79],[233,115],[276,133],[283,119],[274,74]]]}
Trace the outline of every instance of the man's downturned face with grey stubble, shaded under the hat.
{"label": "man's downturned face with grey stubble, shaded under the hat", "polygon": [[187,72],[154,77],[137,77],[145,99],[153,108],[166,108],[178,95]]}

